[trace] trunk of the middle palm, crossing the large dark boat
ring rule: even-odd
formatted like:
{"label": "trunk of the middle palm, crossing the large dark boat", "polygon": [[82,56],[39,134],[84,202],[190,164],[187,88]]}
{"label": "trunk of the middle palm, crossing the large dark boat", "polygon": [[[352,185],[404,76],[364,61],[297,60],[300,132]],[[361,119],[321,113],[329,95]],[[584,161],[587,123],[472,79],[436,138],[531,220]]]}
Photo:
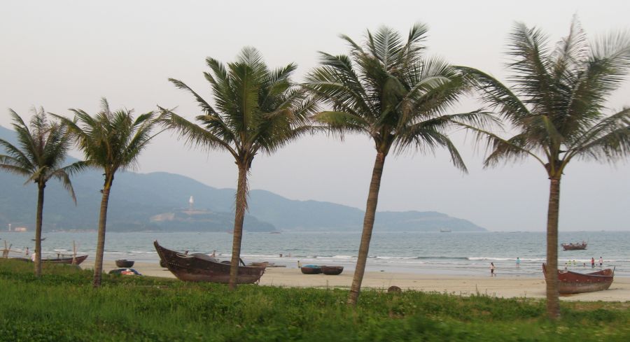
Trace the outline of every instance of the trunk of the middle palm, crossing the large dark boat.
{"label": "trunk of the middle palm, crossing the large dark boat", "polygon": [[247,207],[247,166],[239,164],[239,180],[237,183],[236,211],[232,240],[232,262],[230,263],[230,290],[236,290],[241,257],[241,240],[243,238],[243,222]]}

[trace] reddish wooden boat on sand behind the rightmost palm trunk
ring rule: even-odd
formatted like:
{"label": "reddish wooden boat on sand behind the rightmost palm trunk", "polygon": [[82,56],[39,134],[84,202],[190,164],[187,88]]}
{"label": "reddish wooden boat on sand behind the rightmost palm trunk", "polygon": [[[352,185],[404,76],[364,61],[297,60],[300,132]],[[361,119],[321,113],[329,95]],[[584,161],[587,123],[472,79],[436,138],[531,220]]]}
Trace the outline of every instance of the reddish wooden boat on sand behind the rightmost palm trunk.
{"label": "reddish wooden boat on sand behind the rightmost palm trunk", "polygon": [[[547,279],[547,269],[542,264],[542,273]],[[615,269],[603,269],[592,273],[577,273],[573,271],[558,270],[558,292],[562,294],[594,292],[608,290],[612,284]]]}

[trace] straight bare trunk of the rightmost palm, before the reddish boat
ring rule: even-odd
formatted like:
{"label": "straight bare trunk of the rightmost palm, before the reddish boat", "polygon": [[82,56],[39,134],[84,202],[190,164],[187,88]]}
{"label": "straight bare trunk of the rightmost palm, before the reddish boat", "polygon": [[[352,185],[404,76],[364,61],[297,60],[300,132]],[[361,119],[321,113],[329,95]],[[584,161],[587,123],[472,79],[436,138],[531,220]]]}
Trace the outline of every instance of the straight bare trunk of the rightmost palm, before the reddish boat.
{"label": "straight bare trunk of the rightmost palm, before the reddish boat", "polygon": [[558,294],[558,216],[560,211],[560,178],[549,178],[549,209],[547,211],[547,315],[560,317]]}

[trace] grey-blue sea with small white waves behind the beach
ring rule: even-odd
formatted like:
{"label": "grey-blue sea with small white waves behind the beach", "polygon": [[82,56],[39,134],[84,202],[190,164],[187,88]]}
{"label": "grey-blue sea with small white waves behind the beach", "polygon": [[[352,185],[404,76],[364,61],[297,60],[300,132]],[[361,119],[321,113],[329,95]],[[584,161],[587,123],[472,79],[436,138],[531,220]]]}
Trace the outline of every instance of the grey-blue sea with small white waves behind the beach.
{"label": "grey-blue sea with small white waves behind the beach", "polygon": [[[245,232],[241,258],[247,262],[272,262],[297,268],[298,262],[344,266],[356,265],[360,231],[291,231],[281,233]],[[94,262],[96,232],[45,232],[44,257],[71,255],[75,243],[78,255],[90,255]],[[12,245],[10,257],[23,256],[34,248],[32,232],[0,232],[0,249]],[[374,231],[370,243],[367,271],[440,274],[452,276],[489,276],[490,263],[498,276],[540,276],[545,262],[545,232],[391,232]],[[108,232],[104,258],[159,262],[153,241],[172,250],[215,253],[230,259],[232,234],[227,232]],[[586,241],[587,250],[564,251],[559,246],[559,266],[573,271],[589,271],[591,257],[598,266],[615,267],[615,276],[630,277],[630,231],[561,231],[560,243]],[[516,267],[516,259],[521,260]]]}

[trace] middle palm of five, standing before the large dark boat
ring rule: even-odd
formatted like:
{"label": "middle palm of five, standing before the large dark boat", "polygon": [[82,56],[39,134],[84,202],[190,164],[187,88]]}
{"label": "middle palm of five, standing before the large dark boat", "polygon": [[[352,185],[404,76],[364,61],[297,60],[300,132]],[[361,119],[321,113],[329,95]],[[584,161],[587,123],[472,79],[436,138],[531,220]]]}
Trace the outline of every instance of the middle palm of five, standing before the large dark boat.
{"label": "middle palm of five, standing before the large dark boat", "polygon": [[161,109],[167,124],[187,143],[227,151],[235,159],[239,176],[230,268],[230,290],[235,290],[251,163],[258,152],[271,154],[309,131],[307,118],[316,106],[291,83],[295,64],[270,70],[254,48],[244,48],[236,62],[227,65],[210,57],[206,63],[211,73],[204,72],[204,76],[214,93],[214,106],[186,83],[169,79],[195,97],[202,110],[196,117],[198,124]]}

